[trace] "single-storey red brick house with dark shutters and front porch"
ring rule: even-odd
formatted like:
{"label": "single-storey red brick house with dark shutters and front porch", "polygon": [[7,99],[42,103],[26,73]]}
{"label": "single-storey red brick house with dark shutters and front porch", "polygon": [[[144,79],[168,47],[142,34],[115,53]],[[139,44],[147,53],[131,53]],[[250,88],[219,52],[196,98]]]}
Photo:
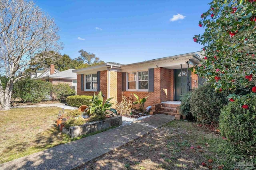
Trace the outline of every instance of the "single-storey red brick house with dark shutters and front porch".
{"label": "single-storey red brick house with dark shutters and front porch", "polygon": [[181,95],[197,88],[202,81],[188,70],[200,63],[200,52],[163,57],[132,64],[108,62],[73,70],[77,74],[77,94],[93,95],[102,91],[104,99],[114,97],[120,101],[122,93],[135,100],[134,93],[152,106],[150,114],[175,115]]}

